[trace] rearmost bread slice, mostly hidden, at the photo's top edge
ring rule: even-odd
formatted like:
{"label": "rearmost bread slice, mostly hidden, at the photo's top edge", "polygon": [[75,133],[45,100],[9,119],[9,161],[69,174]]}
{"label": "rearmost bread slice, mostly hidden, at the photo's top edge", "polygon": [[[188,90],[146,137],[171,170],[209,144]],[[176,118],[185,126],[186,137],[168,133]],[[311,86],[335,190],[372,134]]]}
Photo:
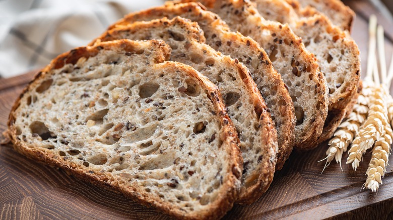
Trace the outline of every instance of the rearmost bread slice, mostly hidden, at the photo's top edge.
{"label": "rearmost bread slice, mostly hidden, at the photo's top edge", "polygon": [[[342,30],[351,31],[352,23],[356,14],[340,0],[285,0],[294,6],[300,5],[303,8],[312,7],[328,17],[333,24]],[[301,13],[302,14],[302,13]]]}

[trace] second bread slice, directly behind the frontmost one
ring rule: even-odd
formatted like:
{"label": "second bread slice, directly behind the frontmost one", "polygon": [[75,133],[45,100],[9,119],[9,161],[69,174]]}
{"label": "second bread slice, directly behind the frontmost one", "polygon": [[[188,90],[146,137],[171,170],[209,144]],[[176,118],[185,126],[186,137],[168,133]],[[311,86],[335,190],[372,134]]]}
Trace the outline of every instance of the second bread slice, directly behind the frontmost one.
{"label": "second bread slice, directly behind the frontmost one", "polygon": [[244,164],[238,202],[255,201],[273,180],[277,133],[268,108],[243,64],[204,44],[197,23],[180,17],[135,22],[111,29],[98,39],[162,39],[172,47],[170,60],[185,63],[212,80],[221,90],[237,130]]}

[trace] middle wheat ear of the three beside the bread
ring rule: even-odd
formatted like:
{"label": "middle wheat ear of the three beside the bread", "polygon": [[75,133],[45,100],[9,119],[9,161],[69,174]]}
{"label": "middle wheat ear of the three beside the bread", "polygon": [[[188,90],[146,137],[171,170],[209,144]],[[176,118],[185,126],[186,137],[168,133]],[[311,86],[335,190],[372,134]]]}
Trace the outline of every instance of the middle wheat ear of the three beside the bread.
{"label": "middle wheat ear of the three beside the bread", "polygon": [[387,108],[384,103],[384,89],[379,85],[372,85],[370,88],[372,94],[367,97],[369,103],[368,117],[348,152],[347,164],[352,163],[352,168],[355,170],[359,166],[363,154],[373,146],[374,142],[380,139],[384,133],[384,127],[389,125]]}

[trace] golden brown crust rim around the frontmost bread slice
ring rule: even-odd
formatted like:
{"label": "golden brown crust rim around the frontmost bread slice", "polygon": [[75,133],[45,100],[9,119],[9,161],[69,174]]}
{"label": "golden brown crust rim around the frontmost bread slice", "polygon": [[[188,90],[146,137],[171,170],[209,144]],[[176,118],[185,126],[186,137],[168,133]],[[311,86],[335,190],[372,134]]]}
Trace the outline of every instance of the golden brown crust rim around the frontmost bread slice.
{"label": "golden brown crust rim around the frontmost bread slice", "polygon": [[[231,160],[229,161],[230,166],[228,166],[228,178],[223,183],[223,190],[221,191],[219,198],[211,203],[211,209],[201,211],[199,213],[186,213],[184,211],[174,209],[169,203],[159,202],[156,199],[150,197],[148,192],[142,188],[138,188],[137,183],[130,184],[130,182],[116,179],[110,173],[102,173],[99,171],[92,171],[88,167],[84,167],[81,164],[76,164],[65,160],[63,157],[60,158],[59,155],[53,153],[53,151],[46,148],[39,148],[39,146],[29,146],[23,140],[17,137],[17,129],[13,126],[14,123],[14,113],[17,111],[20,105],[20,98],[18,98],[12,108],[10,113],[8,131],[7,134],[10,136],[12,142],[14,143],[14,148],[21,154],[26,155],[29,158],[38,160],[50,166],[60,167],[75,176],[92,182],[93,184],[100,185],[110,190],[120,191],[124,195],[139,201],[140,203],[147,205],[149,207],[155,207],[158,210],[170,214],[175,218],[188,218],[188,219],[213,219],[222,217],[226,211],[228,211],[235,199],[238,196],[238,189],[236,187],[236,182],[239,181],[242,170],[242,157],[238,147],[239,140],[236,135],[236,130],[232,125],[231,120],[228,117],[226,108],[224,106],[223,99],[218,88],[211,83],[206,77],[200,75],[194,69],[189,66],[174,62],[164,62],[169,55],[170,48],[163,41],[151,41],[150,49],[155,56],[152,56],[152,61],[155,63],[156,68],[170,68],[173,72],[181,69],[187,73],[190,77],[197,79],[200,82],[201,87],[207,92],[214,104],[215,111],[222,114],[219,115],[221,126],[224,128],[223,133],[223,143],[221,147],[227,149],[228,155],[230,155]],[[55,58],[48,66],[46,66],[37,76],[30,82],[30,84],[24,89],[20,97],[23,97],[24,93],[28,92],[30,89],[35,88],[34,85],[39,79],[49,76],[49,71],[59,68],[59,66],[64,63],[72,63],[78,60],[77,57],[89,57],[97,54],[99,50],[109,49],[109,48],[122,48],[127,52],[138,52],[135,50],[138,48],[138,42],[129,40],[118,40],[112,42],[105,42],[96,44],[94,47],[81,47],[70,52],[61,54]],[[76,62],[76,61],[75,61]],[[164,63],[162,63],[164,62]],[[127,185],[126,185],[127,184]]]}

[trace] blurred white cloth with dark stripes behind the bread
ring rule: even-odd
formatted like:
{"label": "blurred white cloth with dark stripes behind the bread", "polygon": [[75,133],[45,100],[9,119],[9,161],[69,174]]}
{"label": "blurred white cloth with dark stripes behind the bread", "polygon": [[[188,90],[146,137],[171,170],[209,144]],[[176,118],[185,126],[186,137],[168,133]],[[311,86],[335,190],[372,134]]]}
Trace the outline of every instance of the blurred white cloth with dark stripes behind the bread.
{"label": "blurred white cloth with dark stripes behind the bread", "polygon": [[0,0],[0,76],[42,68],[129,12],[164,0]]}

